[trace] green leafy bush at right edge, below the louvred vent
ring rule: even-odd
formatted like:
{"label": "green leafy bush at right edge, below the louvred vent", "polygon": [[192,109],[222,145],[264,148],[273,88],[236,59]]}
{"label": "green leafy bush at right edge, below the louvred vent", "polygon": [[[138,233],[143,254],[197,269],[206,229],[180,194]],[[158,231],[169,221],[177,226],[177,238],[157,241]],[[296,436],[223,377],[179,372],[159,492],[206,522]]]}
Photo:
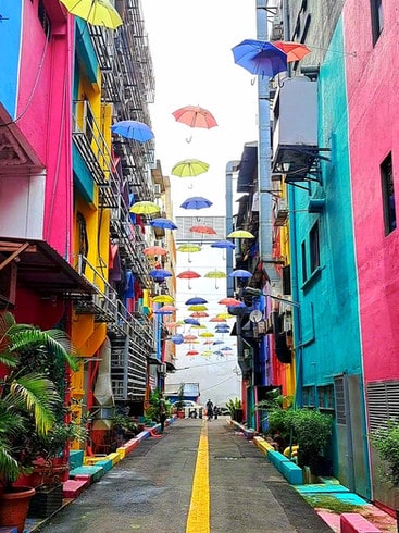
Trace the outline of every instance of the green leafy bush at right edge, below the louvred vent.
{"label": "green leafy bush at right edge, below the louvred vent", "polygon": [[399,422],[389,419],[385,426],[372,432],[371,441],[384,461],[382,479],[399,486]]}

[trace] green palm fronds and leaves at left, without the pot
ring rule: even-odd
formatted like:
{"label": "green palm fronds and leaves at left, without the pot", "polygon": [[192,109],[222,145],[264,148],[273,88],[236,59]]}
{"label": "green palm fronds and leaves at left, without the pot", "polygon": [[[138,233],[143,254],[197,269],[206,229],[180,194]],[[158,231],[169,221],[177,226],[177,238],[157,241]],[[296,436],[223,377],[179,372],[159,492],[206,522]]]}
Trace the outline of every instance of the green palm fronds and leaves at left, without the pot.
{"label": "green palm fronds and leaves at left, without the pot", "polygon": [[0,481],[5,485],[29,471],[34,456],[59,450],[61,434],[71,430],[64,427],[62,400],[65,364],[75,365],[68,346],[64,332],[0,314],[0,363],[7,369],[0,379]]}

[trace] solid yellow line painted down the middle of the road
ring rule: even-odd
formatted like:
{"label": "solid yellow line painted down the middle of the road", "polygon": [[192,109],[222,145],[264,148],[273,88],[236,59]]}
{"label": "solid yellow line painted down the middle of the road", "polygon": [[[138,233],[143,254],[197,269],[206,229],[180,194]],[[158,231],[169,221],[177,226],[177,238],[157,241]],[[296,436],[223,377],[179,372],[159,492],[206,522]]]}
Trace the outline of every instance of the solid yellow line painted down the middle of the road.
{"label": "solid yellow line painted down the middle of the road", "polygon": [[210,532],[208,424],[202,422],[186,533]]}

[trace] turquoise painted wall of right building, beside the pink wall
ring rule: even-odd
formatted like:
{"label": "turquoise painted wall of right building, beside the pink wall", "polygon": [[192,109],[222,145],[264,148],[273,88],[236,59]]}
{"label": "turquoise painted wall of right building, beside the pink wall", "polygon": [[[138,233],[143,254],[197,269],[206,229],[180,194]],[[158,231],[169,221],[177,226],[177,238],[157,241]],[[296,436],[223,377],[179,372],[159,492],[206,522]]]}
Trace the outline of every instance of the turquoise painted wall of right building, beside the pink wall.
{"label": "turquoise painted wall of right building, beside the pink wall", "polygon": [[[363,436],[361,342],[358,285],[351,212],[342,22],[337,24],[329,51],[319,74],[319,147],[329,158],[322,161],[322,184],[311,182],[309,191],[289,185],[290,239],[297,269],[292,286],[300,302],[296,321],[299,405],[336,409],[335,379],[341,379],[353,398],[353,420],[335,424],[331,450],[334,473],[341,483],[367,496],[369,474]],[[325,198],[321,213],[307,211],[311,197]],[[310,232],[319,224],[320,265],[310,270]],[[303,276],[303,262],[307,276]],[[354,377],[354,379],[353,379]],[[348,396],[348,398],[349,398]],[[348,399],[347,398],[347,399]],[[344,407],[345,410],[345,407]],[[339,422],[339,421],[338,421]],[[351,425],[353,423],[353,426]],[[359,435],[356,435],[356,431]],[[348,444],[349,443],[349,444]],[[345,462],[354,453],[352,470]],[[352,486],[354,485],[354,486]]]}

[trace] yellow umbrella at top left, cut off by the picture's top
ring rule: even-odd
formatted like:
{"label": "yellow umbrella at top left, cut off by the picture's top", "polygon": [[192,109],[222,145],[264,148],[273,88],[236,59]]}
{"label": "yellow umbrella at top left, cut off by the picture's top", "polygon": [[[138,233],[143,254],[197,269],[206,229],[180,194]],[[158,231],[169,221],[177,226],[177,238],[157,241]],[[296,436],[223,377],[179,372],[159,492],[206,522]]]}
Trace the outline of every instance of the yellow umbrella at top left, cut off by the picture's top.
{"label": "yellow umbrella at top left, cut off by the picture's top", "polygon": [[67,11],[93,26],[116,29],[123,21],[109,0],[61,0]]}

